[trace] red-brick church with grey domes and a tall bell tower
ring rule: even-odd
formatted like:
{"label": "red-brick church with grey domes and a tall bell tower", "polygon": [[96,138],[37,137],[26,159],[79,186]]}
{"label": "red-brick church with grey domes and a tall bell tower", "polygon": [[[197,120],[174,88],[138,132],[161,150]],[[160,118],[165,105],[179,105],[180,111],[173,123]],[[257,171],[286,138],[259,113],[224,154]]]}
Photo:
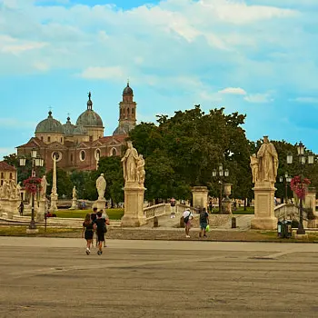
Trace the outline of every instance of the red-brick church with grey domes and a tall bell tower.
{"label": "red-brick church with grey domes and a tall bell tower", "polygon": [[104,124],[93,110],[91,93],[87,109],[79,115],[76,124],[67,117],[65,124],[56,120],[52,112],[37,124],[35,136],[17,148],[18,156],[29,156],[32,149],[45,159],[46,171],[53,168],[53,158],[65,170],[94,170],[101,156],[122,155],[124,140],[136,123],[136,103],[129,83],[124,88],[119,104],[119,124],[114,133],[104,136]]}

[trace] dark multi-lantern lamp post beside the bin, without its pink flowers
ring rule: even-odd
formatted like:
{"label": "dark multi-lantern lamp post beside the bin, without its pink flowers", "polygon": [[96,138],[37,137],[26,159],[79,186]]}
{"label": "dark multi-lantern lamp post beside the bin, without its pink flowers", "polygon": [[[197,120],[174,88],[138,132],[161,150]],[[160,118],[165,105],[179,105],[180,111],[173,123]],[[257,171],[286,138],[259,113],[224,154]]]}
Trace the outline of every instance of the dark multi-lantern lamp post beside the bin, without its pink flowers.
{"label": "dark multi-lantern lamp post beside the bin, without its pink flowers", "polygon": [[[298,156],[298,164],[299,164],[299,169],[301,172],[301,184],[303,187],[303,165],[306,164],[313,164],[314,162],[314,154],[309,153],[309,154],[304,154],[304,145],[302,142],[297,144],[297,156]],[[287,164],[293,164],[293,154],[288,153],[287,154]],[[298,224],[298,229],[297,229],[297,234],[306,234],[303,228],[303,197],[300,198],[299,202],[299,224]]]}

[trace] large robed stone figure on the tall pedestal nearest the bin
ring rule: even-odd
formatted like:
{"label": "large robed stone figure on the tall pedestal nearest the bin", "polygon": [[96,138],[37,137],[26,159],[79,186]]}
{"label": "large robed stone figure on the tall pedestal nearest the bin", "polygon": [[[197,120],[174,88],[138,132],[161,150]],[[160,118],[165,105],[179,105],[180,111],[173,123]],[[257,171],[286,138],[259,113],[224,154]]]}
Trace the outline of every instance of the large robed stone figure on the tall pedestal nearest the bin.
{"label": "large robed stone figure on the tall pedestal nearest the bin", "polygon": [[257,181],[276,182],[278,169],[278,154],[272,143],[269,142],[268,136],[263,137],[263,144],[257,152],[258,174]]}

